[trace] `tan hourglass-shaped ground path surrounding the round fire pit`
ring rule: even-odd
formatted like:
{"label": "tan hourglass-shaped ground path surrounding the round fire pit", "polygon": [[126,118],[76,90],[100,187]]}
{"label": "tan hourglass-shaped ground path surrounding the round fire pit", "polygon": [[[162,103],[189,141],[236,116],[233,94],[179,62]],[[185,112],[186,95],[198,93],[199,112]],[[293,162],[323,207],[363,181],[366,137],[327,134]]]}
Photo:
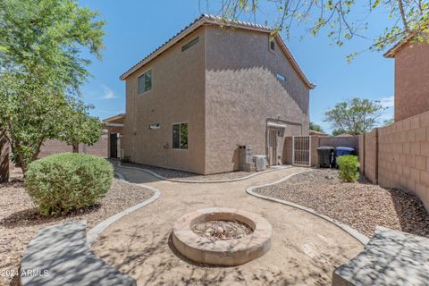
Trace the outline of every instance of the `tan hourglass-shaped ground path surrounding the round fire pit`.
{"label": "tan hourglass-shaped ground path surrounding the round fire pit", "polygon": [[[249,196],[250,186],[278,181],[302,168],[266,172],[230,183],[157,181],[147,172],[116,167],[128,181],[160,189],[155,202],[105,229],[92,248],[139,285],[327,285],[336,266],[363,246],[332,223],[291,206]],[[199,208],[224,206],[260,214],[273,226],[272,248],[237,267],[195,265],[171,243],[172,223]]]}

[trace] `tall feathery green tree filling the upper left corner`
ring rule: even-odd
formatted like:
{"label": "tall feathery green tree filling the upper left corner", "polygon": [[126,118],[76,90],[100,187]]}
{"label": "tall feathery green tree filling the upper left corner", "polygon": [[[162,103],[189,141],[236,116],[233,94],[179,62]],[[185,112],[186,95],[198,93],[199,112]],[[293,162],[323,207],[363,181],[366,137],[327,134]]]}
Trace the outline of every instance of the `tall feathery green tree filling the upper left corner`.
{"label": "tall feathery green tree filling the upper left corner", "polygon": [[23,172],[77,112],[70,98],[90,63],[81,49],[101,58],[105,21],[96,18],[75,0],[0,0],[0,132]]}

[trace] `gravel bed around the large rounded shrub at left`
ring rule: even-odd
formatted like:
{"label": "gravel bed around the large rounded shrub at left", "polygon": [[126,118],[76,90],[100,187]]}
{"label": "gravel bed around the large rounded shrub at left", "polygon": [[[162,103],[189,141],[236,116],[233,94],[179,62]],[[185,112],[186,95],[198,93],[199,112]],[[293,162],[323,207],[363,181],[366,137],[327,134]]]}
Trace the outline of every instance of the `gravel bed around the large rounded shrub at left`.
{"label": "gravel bed around the large rounded shrub at left", "polygon": [[0,184],[0,285],[15,285],[16,272],[29,240],[39,229],[57,223],[87,221],[90,230],[97,223],[122,210],[150,198],[153,191],[114,179],[112,188],[96,206],[80,209],[63,216],[45,217],[38,214],[22,182],[20,172],[13,172],[8,183]]}

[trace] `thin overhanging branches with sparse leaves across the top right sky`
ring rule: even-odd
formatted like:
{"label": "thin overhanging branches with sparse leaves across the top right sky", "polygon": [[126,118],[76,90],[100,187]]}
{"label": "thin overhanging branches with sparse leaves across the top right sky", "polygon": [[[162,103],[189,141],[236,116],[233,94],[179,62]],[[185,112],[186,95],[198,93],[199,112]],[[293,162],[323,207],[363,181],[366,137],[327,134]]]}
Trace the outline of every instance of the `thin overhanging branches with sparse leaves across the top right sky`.
{"label": "thin overhanging branches with sparse leaves across the top right sky", "polygon": [[[214,0],[206,2],[216,4]],[[327,28],[332,42],[342,46],[346,40],[366,38],[365,30],[369,26],[367,15],[362,15],[360,11],[353,13],[361,8],[366,10],[367,15],[386,15],[386,27],[373,38],[369,50],[381,51],[403,38],[428,41],[429,3],[423,0],[226,0],[222,1],[219,14],[225,20],[238,20],[246,13],[255,18],[257,13],[274,13],[277,18],[275,32],[284,31],[289,37],[294,25],[307,25],[309,33],[317,35],[321,29]],[[349,55],[348,59],[354,55],[357,53]]]}

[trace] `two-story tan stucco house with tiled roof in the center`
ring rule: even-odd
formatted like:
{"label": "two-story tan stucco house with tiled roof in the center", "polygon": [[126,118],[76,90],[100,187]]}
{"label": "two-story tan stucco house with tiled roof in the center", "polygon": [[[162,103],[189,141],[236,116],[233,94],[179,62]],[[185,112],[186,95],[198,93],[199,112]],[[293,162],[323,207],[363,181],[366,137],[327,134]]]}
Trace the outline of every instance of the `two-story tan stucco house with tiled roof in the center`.
{"label": "two-story tan stucco house with tiled roof in the center", "polygon": [[284,164],[284,138],[308,135],[314,85],[272,32],[202,15],[123,73],[123,155],[208,174],[238,170],[249,145]]}

